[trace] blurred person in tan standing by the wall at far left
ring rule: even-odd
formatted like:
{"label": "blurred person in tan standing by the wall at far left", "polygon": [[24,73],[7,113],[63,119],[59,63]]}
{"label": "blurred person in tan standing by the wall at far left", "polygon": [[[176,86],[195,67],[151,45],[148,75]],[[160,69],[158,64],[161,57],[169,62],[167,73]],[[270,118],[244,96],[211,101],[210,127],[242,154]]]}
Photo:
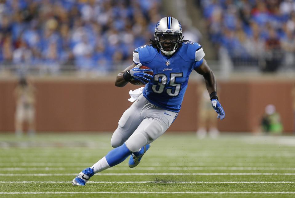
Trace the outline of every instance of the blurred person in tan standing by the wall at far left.
{"label": "blurred person in tan standing by the wall at far left", "polygon": [[28,135],[35,134],[35,88],[27,82],[25,77],[20,78],[14,90],[16,98],[15,134],[23,134],[23,124],[27,122]]}

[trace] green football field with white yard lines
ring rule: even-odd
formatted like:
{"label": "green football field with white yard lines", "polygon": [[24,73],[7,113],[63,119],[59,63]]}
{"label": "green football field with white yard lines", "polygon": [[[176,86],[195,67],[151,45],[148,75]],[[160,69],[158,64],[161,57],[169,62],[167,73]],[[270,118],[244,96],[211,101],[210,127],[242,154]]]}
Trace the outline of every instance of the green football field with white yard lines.
{"label": "green football field with white yard lines", "polygon": [[128,160],[71,180],[112,149],[111,133],[0,134],[0,197],[295,197],[295,137],[167,133]]}

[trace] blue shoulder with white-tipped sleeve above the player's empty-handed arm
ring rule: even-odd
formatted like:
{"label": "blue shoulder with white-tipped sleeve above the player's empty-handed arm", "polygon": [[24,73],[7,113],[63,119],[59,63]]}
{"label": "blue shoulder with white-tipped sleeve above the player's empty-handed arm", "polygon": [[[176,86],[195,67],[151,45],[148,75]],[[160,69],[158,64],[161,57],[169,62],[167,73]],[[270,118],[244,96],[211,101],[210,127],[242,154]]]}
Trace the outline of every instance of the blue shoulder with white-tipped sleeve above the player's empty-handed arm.
{"label": "blue shoulder with white-tipped sleeve above the player's empty-handed arm", "polygon": [[182,43],[181,48],[180,54],[185,61],[201,61],[205,56],[203,47],[198,43],[187,41]]}

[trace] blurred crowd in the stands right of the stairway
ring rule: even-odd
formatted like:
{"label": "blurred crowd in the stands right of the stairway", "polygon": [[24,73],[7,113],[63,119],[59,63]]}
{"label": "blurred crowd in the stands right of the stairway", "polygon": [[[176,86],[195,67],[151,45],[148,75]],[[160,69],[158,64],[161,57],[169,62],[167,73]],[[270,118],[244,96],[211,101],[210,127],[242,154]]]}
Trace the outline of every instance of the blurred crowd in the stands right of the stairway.
{"label": "blurred crowd in the stands right of the stairway", "polygon": [[294,0],[201,0],[213,45],[227,49],[234,65],[276,71],[295,63]]}

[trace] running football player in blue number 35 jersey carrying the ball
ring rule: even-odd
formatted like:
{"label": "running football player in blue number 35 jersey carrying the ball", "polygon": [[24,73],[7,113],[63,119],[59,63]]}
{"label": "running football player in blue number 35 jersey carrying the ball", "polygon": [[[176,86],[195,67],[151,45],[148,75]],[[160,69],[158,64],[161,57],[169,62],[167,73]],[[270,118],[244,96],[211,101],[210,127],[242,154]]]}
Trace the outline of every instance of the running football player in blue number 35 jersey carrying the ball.
{"label": "running football player in blue number 35 jersey carrying the ball", "polygon": [[[149,149],[150,143],[160,137],[176,119],[181,108],[189,74],[195,70],[203,75],[217,118],[225,117],[216,93],[216,78],[204,59],[198,43],[183,40],[177,19],[165,17],[157,22],[155,40],[138,47],[133,53],[133,64],[117,75],[115,85],[125,86],[138,81],[146,84],[134,103],[127,109],[111,139],[111,150],[92,167],[82,170],[72,180],[73,185],[84,186],[97,172],[123,162],[128,156],[129,167],[134,168]],[[140,69],[145,65],[150,69]],[[153,72],[153,76],[148,74]]]}

